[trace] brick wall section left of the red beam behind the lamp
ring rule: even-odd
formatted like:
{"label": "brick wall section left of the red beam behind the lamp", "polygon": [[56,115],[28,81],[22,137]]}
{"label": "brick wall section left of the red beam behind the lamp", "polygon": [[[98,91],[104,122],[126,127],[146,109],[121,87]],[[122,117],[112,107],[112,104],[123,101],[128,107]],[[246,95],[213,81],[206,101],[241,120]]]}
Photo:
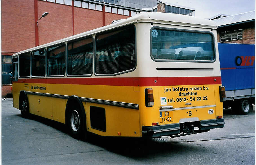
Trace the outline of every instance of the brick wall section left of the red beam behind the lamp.
{"label": "brick wall section left of the red beam behind the lamp", "polygon": [[34,0],[2,1],[2,51],[19,52],[35,46]]}

